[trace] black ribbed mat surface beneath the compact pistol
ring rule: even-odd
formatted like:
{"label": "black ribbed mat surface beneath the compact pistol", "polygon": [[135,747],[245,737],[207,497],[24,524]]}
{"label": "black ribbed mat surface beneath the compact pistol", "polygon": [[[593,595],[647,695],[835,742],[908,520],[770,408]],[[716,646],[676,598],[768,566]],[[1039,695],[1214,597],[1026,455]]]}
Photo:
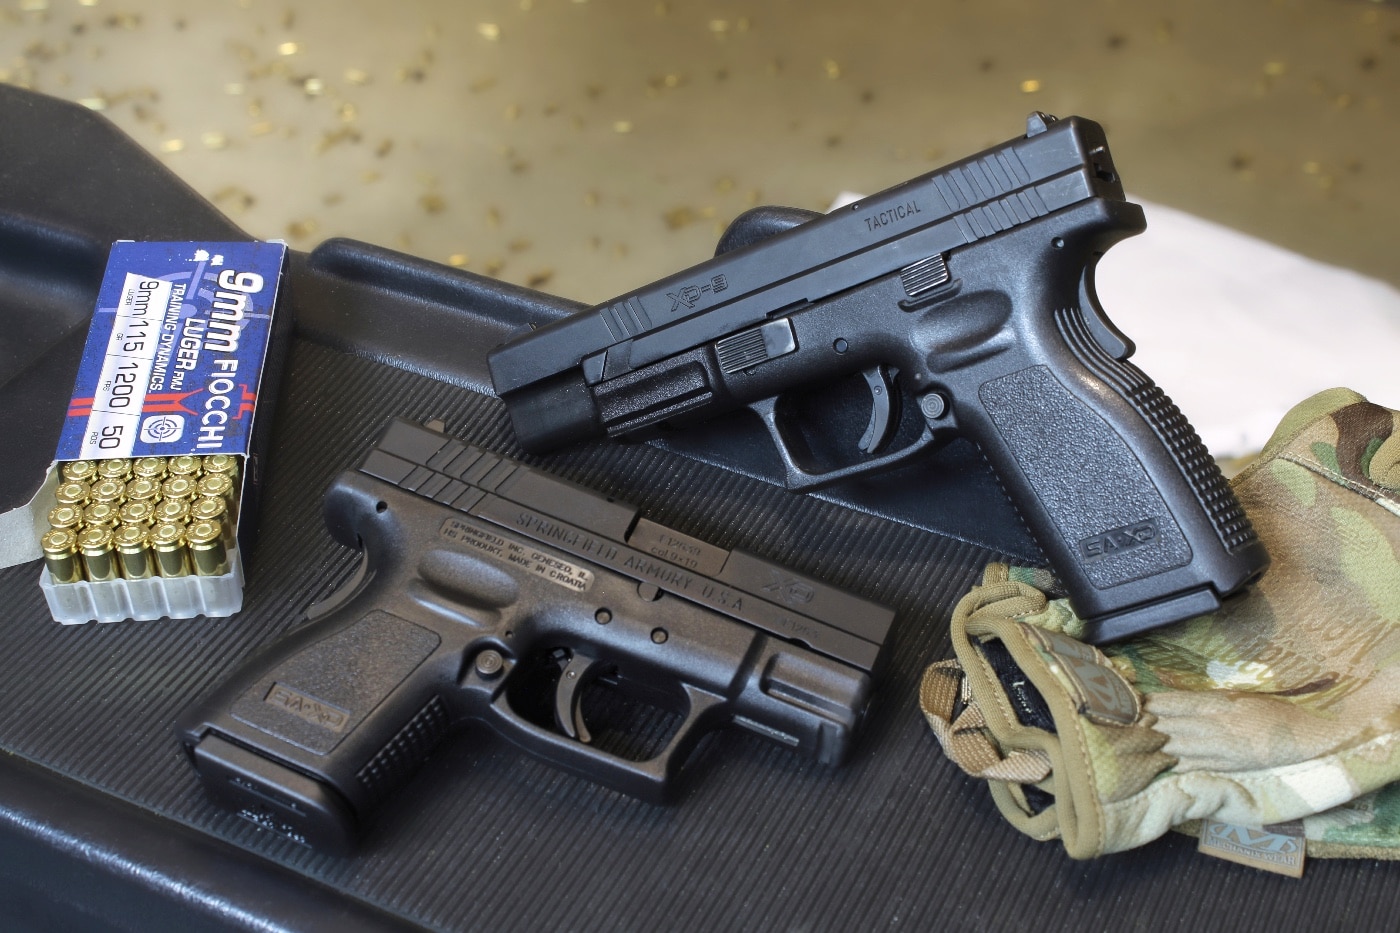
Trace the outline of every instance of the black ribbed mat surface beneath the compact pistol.
{"label": "black ribbed mat surface beneath the compact pistol", "polygon": [[347,579],[357,555],[323,530],[322,490],[391,415],[440,417],[451,434],[519,457],[494,399],[305,342],[281,399],[235,618],[64,628],[48,621],[36,565],[0,574],[4,748],[437,929],[1078,933],[1281,930],[1305,913],[1365,929],[1390,916],[1394,895],[1378,897],[1389,876],[1364,863],[1316,864],[1295,884],[1198,859],[1184,839],[1079,864],[1021,838],[944,761],[916,702],[923,667],[946,654],[953,601],[991,555],[608,443],[522,459],[897,609],[854,761],[827,769],[728,730],[701,747],[680,801],[654,807],[473,727],[385,804],[358,857],[270,838],[204,801],[172,723]]}

